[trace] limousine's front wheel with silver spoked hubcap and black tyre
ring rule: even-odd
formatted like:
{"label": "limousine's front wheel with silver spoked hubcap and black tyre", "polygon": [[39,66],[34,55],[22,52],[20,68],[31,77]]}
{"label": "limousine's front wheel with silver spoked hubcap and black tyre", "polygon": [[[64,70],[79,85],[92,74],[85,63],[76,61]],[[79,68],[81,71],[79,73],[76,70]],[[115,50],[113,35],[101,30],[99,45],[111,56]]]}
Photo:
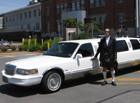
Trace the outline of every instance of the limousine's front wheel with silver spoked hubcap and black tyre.
{"label": "limousine's front wheel with silver spoked hubcap and black tyre", "polygon": [[62,85],[62,76],[56,71],[50,71],[45,74],[42,80],[42,86],[45,92],[56,92]]}

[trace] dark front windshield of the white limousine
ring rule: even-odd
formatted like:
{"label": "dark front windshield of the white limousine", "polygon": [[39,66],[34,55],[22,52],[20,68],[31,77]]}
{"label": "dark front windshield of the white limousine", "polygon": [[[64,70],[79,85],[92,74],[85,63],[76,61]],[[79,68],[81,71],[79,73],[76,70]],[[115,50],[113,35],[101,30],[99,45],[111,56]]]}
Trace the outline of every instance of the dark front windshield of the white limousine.
{"label": "dark front windshield of the white limousine", "polygon": [[78,43],[57,43],[43,55],[71,57],[77,46]]}

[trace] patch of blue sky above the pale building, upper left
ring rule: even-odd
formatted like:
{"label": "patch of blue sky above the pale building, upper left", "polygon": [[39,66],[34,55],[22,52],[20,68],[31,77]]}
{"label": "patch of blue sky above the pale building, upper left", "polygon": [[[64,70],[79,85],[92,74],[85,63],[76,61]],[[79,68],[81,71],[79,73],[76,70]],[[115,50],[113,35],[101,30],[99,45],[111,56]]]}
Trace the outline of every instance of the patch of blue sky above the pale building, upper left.
{"label": "patch of blue sky above the pale building, upper left", "polygon": [[0,14],[25,7],[32,0],[0,0]]}

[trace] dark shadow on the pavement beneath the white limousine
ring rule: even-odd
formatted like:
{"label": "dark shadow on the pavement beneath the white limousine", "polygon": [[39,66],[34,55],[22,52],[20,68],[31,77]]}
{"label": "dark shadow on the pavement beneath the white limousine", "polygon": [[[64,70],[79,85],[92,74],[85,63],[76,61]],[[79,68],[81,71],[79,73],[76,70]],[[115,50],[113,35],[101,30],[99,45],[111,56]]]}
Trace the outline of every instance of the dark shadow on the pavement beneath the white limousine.
{"label": "dark shadow on the pavement beneath the white limousine", "polygon": [[[140,70],[139,68],[140,68],[139,66],[131,67],[131,68],[124,68],[122,70],[117,71],[116,77],[120,75],[124,75],[124,74],[129,74],[132,72],[136,72]],[[111,76],[108,75],[108,77],[111,77]],[[100,85],[102,81],[99,81],[99,80],[102,80],[102,79],[103,79],[102,74],[86,76],[85,78],[80,78],[80,79],[75,79],[75,80],[65,82],[63,86],[61,87],[61,89],[67,89],[70,87],[80,86],[82,84],[87,84],[87,83],[93,84],[93,85]],[[32,87],[20,87],[20,86],[15,86],[11,84],[1,85],[0,93],[10,95],[13,97],[26,97],[30,95],[36,95],[36,94],[50,94],[50,93],[44,93],[39,85],[32,86]]]}

